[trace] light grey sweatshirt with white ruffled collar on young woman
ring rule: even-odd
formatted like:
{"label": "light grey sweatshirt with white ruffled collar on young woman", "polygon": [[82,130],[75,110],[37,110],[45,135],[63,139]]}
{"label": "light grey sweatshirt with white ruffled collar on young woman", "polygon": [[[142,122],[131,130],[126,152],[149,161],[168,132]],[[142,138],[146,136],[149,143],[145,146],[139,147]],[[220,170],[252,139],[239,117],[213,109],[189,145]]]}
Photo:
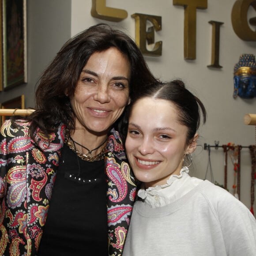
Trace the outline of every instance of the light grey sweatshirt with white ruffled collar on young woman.
{"label": "light grey sweatshirt with white ruffled collar on young woman", "polygon": [[225,189],[183,168],[141,189],[123,256],[256,256],[256,219]]}

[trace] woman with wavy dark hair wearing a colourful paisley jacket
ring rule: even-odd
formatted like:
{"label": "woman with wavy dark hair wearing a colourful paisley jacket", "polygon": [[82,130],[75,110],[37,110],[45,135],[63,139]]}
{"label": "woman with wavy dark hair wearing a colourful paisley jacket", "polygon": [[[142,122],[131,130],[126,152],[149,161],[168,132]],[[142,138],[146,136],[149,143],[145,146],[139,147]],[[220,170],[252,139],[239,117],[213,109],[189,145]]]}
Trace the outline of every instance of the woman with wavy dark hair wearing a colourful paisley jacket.
{"label": "woman with wavy dark hair wearing a colourful paisley jacket", "polygon": [[154,81],[135,42],[108,25],[60,49],[36,111],[1,128],[0,255],[122,254],[136,184],[115,128]]}

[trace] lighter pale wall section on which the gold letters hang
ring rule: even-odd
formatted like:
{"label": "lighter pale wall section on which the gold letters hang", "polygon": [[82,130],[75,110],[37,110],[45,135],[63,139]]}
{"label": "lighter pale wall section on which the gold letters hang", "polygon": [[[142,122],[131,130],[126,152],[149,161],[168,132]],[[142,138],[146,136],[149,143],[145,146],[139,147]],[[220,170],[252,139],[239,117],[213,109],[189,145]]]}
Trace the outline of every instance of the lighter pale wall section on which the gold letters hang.
{"label": "lighter pale wall section on which the gold letters hang", "polygon": [[[184,60],[183,33],[184,8],[173,6],[171,0],[108,0],[107,6],[125,9],[128,18],[120,23],[95,19],[90,15],[91,1],[72,0],[72,36],[96,23],[109,23],[135,38],[134,13],[162,17],[162,31],[155,34],[155,41],[163,41],[162,56],[145,57],[154,75],[163,80],[181,78],[204,103],[208,120],[199,131],[200,144],[219,145],[233,142],[242,146],[255,144],[255,127],[243,123],[246,113],[256,113],[256,101],[233,99],[233,67],[242,53],[256,54],[256,42],[242,41],[234,33],[231,10],[235,0],[208,0],[206,10],[197,10],[196,60]],[[255,16],[250,9],[249,16]],[[220,28],[220,57],[222,69],[209,69],[211,64],[210,20],[223,22]],[[247,148],[241,151],[241,201],[250,207],[251,162]],[[192,175],[205,177],[208,152],[198,147],[194,156]],[[211,165],[214,180],[224,183],[224,154],[222,148],[211,148]],[[209,173],[209,172],[208,172]],[[208,179],[211,177],[208,175]],[[233,166],[228,162],[228,188],[233,192]],[[254,206],[256,209],[256,204]]]}

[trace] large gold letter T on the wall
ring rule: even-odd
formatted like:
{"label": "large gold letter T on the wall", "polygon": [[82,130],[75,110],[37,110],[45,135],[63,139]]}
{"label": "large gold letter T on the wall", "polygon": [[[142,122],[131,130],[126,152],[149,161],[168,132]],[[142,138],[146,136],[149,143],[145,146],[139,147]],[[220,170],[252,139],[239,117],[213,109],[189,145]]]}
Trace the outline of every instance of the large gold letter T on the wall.
{"label": "large gold letter T on the wall", "polygon": [[207,0],[173,0],[184,6],[184,58],[196,59],[196,9],[207,9]]}

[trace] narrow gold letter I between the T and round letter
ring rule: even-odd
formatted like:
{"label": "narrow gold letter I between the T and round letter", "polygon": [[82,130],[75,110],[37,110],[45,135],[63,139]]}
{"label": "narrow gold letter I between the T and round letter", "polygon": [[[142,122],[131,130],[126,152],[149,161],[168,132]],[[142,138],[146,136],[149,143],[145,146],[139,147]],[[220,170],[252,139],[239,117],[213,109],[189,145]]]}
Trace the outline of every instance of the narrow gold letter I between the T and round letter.
{"label": "narrow gold letter I between the T and round letter", "polygon": [[211,39],[211,65],[208,68],[222,68],[219,64],[219,27],[224,24],[218,21],[209,21],[212,24],[212,39]]}

